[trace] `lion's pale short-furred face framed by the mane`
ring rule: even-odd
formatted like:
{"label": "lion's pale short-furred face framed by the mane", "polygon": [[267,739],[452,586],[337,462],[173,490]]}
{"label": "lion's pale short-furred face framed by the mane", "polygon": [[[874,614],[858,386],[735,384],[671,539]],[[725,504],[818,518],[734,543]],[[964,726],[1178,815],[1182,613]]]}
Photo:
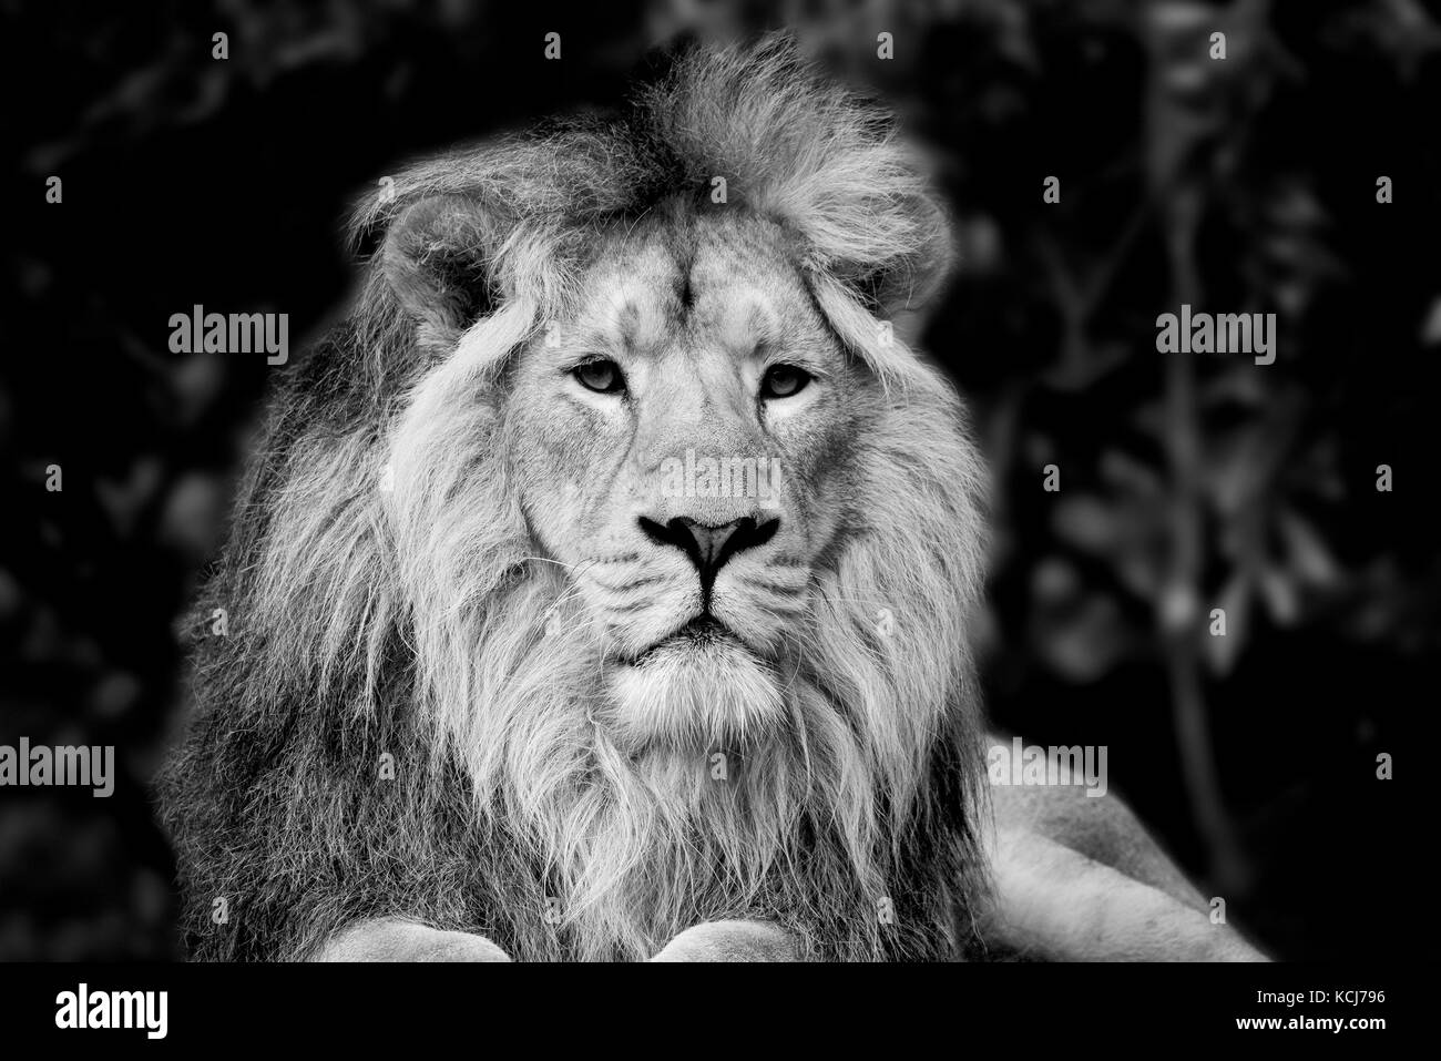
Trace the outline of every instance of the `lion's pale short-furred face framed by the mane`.
{"label": "lion's pale short-furred face framed by the mane", "polygon": [[575,304],[520,358],[504,437],[599,640],[597,721],[630,750],[764,738],[867,383],[755,218],[611,232]]}

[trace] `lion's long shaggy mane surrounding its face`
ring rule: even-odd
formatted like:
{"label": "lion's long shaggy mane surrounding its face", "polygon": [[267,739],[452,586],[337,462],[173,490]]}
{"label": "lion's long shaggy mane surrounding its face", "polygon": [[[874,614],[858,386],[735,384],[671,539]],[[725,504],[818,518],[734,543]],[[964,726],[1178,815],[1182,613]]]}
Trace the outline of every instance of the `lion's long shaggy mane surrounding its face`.
{"label": "lion's long shaggy mane surrounding its face", "polygon": [[[588,236],[708,209],[713,174],[726,209],[787,234],[878,381],[801,662],[725,786],[591,724],[592,629],[527,533],[504,404],[507,363],[574,310]],[[950,388],[878,339],[948,248],[889,125],[772,39],[683,59],[621,118],[460,151],[395,190],[356,215],[378,254],[274,396],[199,601],[195,716],[161,786],[193,953],[307,956],[379,915],[525,959],[646,957],[722,917],[778,921],[817,957],[963,946],[986,887],[981,473]]]}

